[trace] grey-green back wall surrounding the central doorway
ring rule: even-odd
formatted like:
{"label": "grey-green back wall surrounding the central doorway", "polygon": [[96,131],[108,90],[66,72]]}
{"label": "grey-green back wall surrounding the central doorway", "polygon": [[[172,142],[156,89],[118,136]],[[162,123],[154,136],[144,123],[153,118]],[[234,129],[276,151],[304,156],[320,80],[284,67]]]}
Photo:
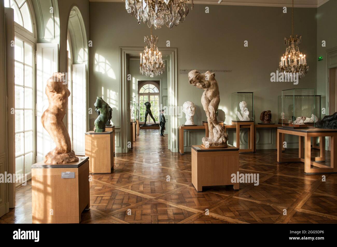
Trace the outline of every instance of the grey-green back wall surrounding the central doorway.
{"label": "grey-green back wall surrounding the central doorway", "polygon": [[[253,91],[255,93],[255,122],[263,110],[271,110],[277,119],[277,96],[290,88],[316,88],[316,9],[295,9],[295,33],[303,37],[300,50],[307,54],[309,74],[298,85],[271,83],[270,73],[276,72],[279,58],[285,52],[283,39],[291,34],[291,12],[283,14],[279,7],[194,5],[186,21],[169,30],[167,27],[153,30],[159,36],[158,47],[178,48],[179,69],[229,69],[231,73],[216,73],[220,89],[219,108],[225,112],[225,123],[231,122],[231,93]],[[90,31],[93,47],[90,56],[102,56],[108,73],[95,69],[90,60],[90,102],[104,91],[112,90],[119,102],[119,47],[143,47],[144,35],[149,28],[137,25],[129,16],[123,3],[90,2]],[[267,21],[268,20],[268,21]],[[310,28],[308,28],[310,27]],[[248,47],[244,47],[248,40]],[[159,49],[160,50],[160,49]],[[194,120],[201,124],[206,120],[200,98],[203,91],[188,84],[186,74],[178,74],[178,105],[190,100],[197,106]],[[119,107],[113,121],[119,125]],[[219,115],[224,120],[224,114]],[[184,123],[184,116],[179,125]]]}

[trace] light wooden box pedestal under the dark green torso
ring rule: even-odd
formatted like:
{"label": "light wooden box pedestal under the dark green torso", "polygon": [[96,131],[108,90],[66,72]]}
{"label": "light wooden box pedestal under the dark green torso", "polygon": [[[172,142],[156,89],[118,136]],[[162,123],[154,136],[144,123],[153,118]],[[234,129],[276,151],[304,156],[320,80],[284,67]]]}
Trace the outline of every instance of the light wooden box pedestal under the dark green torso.
{"label": "light wooden box pedestal under the dark green torso", "polygon": [[111,173],[114,167],[114,131],[85,133],[85,155],[90,173]]}

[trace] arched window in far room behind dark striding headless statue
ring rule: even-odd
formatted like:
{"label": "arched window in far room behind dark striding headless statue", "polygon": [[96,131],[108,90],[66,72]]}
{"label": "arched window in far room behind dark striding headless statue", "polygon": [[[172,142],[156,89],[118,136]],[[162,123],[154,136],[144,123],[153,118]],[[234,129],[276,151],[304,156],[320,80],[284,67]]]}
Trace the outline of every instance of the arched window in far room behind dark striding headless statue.
{"label": "arched window in far room behind dark striding headless statue", "polygon": [[[151,103],[151,112],[158,122],[159,119],[159,90],[155,84],[147,82],[143,85],[138,92],[139,95],[139,114],[140,114],[140,122],[145,122],[145,111],[146,106],[144,105],[145,102],[149,101]],[[150,115],[148,115],[147,123],[154,123]]]}

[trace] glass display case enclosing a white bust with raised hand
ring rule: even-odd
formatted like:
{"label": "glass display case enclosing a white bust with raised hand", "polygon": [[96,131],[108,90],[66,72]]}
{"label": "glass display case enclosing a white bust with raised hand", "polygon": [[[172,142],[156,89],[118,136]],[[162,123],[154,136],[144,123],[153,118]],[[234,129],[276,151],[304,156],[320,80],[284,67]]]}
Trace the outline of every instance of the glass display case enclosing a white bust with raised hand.
{"label": "glass display case enclosing a white bust with raised hand", "polygon": [[232,93],[232,121],[254,122],[254,93]]}

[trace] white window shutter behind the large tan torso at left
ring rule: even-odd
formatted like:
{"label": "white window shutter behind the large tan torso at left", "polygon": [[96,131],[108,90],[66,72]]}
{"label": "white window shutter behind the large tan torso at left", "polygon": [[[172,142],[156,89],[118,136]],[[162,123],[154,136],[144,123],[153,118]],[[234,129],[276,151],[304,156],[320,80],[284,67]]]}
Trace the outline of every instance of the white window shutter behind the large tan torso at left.
{"label": "white window shutter behind the large tan torso at left", "polygon": [[58,72],[58,44],[36,44],[36,162],[44,160],[44,156],[55,148],[41,123],[41,116],[49,105],[45,87],[54,72]]}

